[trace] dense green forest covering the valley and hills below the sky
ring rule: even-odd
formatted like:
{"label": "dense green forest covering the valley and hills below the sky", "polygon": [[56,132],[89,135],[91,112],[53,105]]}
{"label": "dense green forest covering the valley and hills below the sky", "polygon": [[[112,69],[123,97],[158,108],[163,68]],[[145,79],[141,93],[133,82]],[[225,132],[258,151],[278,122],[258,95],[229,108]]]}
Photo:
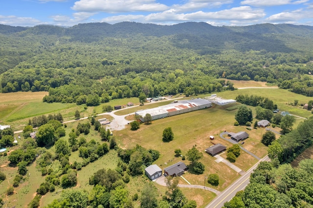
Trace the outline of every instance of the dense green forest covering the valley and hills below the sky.
{"label": "dense green forest covering the valley and hills below the sky", "polygon": [[217,80],[227,78],[313,96],[312,37],[313,27],[291,24],[0,25],[0,90],[49,91],[45,102],[81,104],[87,95],[106,102],[233,90]]}

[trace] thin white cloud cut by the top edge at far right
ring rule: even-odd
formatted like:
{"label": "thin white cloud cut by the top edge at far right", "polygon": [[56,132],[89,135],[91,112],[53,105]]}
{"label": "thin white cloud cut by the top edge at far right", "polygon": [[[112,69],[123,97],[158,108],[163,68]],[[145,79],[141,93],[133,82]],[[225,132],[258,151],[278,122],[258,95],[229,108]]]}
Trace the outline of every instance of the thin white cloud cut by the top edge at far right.
{"label": "thin white cloud cut by the top edge at far right", "polygon": [[244,0],[240,3],[243,5],[252,5],[252,6],[278,6],[286,4],[300,4],[305,3],[308,0]]}

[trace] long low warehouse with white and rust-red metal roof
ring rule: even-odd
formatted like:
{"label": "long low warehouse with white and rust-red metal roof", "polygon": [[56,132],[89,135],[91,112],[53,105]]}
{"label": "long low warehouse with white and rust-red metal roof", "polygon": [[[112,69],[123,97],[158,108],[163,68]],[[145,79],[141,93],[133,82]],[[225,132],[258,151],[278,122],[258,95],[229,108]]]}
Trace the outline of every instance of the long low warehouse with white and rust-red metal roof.
{"label": "long low warehouse with white and rust-red metal roof", "polygon": [[162,105],[151,109],[140,110],[135,112],[135,115],[141,116],[140,120],[142,122],[145,122],[144,117],[147,113],[151,115],[152,120],[156,120],[164,117],[191,112],[194,110],[200,110],[211,106],[212,103],[210,101],[198,98],[194,100],[178,101],[177,103]]}

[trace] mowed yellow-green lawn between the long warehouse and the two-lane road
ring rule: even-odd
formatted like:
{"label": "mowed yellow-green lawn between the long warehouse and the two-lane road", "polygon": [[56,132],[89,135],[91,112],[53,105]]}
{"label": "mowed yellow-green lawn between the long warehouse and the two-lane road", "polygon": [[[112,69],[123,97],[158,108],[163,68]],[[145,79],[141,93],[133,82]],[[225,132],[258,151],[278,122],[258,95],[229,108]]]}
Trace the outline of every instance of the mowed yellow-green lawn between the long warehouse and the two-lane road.
{"label": "mowed yellow-green lawn between the long warehouse and the two-lane road", "polygon": [[[201,175],[187,173],[184,177],[191,184],[204,185],[204,176],[218,173],[220,175],[220,184],[218,187],[213,188],[223,190],[240,175],[223,163],[217,164],[214,157],[204,152],[207,147],[213,145],[212,141],[208,139],[210,135],[214,135],[217,138],[213,143],[221,143],[227,147],[232,146],[229,142],[218,138],[220,132],[224,131],[225,126],[233,126],[235,111],[227,111],[220,108],[219,106],[214,106],[159,119],[153,121],[151,125],[140,125],[140,128],[136,131],[131,131],[128,127],[116,132],[115,136],[122,148],[132,148],[139,144],[147,149],[151,148],[160,151],[161,157],[156,161],[156,164],[162,169],[181,161],[181,157],[175,157],[175,149],[181,149],[182,155],[186,155],[188,149],[196,145],[199,151],[203,153],[201,163],[205,165],[205,172]],[[166,127],[172,127],[174,132],[174,140],[169,143],[162,142],[162,132]],[[258,139],[260,140],[260,138]],[[266,155],[266,151],[266,147],[262,147],[259,156]],[[243,155],[245,154],[243,153]],[[184,162],[186,165],[189,165],[189,161],[185,160]],[[256,159],[253,157],[246,156],[239,158],[235,165],[247,170],[256,162]],[[182,183],[185,182],[182,181]],[[206,186],[212,187],[207,183]]]}

